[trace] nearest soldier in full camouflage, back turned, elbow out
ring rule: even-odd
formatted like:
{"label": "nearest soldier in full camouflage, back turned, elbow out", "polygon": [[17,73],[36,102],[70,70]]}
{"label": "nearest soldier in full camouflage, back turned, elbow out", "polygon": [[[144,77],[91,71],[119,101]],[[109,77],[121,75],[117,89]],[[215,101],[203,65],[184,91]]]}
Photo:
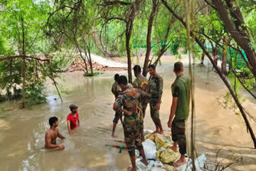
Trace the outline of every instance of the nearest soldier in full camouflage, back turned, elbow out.
{"label": "nearest soldier in full camouflage, back turned, elbow out", "polygon": [[141,97],[149,98],[149,95],[143,92],[141,89],[130,88],[127,84],[126,76],[123,75],[118,79],[118,85],[120,85],[122,92],[119,93],[117,100],[114,102],[113,109],[116,112],[124,113],[124,135],[128,153],[130,155],[130,161],[132,164],[128,170],[135,171],[137,170],[135,163],[136,147],[142,155],[142,163],[144,163],[144,165],[148,165],[138,129],[138,105],[140,104],[138,99]]}

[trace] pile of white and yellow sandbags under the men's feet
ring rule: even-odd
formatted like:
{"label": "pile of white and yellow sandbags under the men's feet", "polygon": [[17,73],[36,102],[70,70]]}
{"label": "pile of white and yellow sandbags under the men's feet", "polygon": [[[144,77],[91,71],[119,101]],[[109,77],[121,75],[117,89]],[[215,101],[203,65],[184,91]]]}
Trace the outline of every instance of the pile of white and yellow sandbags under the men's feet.
{"label": "pile of white and yellow sandbags under the men's feet", "polygon": [[[190,171],[192,169],[191,159],[186,158],[186,165],[181,165],[174,168],[173,163],[177,161],[181,154],[175,153],[169,147],[173,146],[171,135],[161,135],[158,133],[153,134],[153,131],[146,130],[144,132],[146,141],[142,142],[146,159],[149,165],[144,165],[140,160],[142,157],[139,156],[139,151],[136,149],[136,155],[139,157],[136,160],[138,171]],[[202,154],[198,159],[195,160],[196,170],[201,170],[206,161],[206,157]]]}

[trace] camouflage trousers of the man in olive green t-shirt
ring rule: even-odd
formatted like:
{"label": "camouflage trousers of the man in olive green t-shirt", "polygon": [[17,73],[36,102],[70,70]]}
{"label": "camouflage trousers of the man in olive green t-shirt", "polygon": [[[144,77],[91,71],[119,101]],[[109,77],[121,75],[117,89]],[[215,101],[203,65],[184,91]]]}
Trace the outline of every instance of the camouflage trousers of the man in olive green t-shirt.
{"label": "camouflage trousers of the man in olive green t-shirt", "polygon": [[186,125],[185,120],[173,121],[171,124],[171,134],[173,141],[178,141],[179,153],[186,153]]}

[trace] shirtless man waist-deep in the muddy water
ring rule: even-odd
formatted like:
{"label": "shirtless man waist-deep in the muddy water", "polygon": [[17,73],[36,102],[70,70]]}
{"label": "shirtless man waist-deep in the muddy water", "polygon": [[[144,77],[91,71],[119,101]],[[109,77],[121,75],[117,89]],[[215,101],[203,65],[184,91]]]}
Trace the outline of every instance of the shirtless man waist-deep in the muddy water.
{"label": "shirtless man waist-deep in the muddy water", "polygon": [[57,117],[50,117],[49,119],[50,129],[46,131],[45,135],[45,149],[54,149],[59,147],[60,149],[65,149],[64,145],[58,145],[56,143],[57,137],[65,139],[61,133],[58,132],[58,118]]}

